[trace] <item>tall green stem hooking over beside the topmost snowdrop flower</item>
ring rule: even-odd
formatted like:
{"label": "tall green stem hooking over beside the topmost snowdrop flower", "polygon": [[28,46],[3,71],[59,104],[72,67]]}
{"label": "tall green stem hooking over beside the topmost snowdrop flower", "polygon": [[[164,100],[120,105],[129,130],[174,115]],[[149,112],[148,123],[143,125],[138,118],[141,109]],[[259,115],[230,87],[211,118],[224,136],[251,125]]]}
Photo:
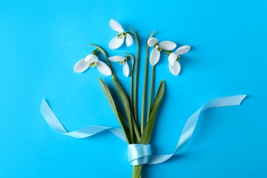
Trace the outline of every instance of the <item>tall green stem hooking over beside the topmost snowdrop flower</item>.
{"label": "tall green stem hooking over beside the topmost snowdrop flower", "polygon": [[130,28],[131,31],[133,31],[133,35],[136,38],[136,76],[134,80],[134,89],[133,89],[133,117],[136,118],[136,124],[138,124],[138,108],[137,108],[137,88],[138,88],[138,73],[139,73],[139,58],[140,58],[140,49],[139,49],[139,39],[136,34],[136,31],[134,31],[132,28]]}

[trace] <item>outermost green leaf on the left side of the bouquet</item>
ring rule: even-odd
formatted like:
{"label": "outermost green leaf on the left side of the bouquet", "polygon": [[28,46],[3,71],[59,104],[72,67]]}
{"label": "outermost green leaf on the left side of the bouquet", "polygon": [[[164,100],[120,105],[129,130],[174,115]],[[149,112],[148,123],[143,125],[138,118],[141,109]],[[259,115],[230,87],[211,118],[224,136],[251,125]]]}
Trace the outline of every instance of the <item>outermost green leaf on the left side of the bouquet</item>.
{"label": "outermost green leaf on the left side of the bouquet", "polygon": [[99,82],[101,84],[101,88],[105,94],[105,97],[107,97],[107,101],[110,103],[110,106],[112,107],[112,110],[113,110],[116,118],[118,118],[118,122],[120,123],[120,127],[123,129],[123,132],[125,133],[126,140],[129,144],[129,128],[127,127],[127,124],[125,123],[125,120],[123,119],[121,114],[118,112],[116,105],[114,103],[114,100],[112,98],[112,94],[110,93],[110,90],[107,88],[107,85],[101,79],[101,77],[99,77]]}

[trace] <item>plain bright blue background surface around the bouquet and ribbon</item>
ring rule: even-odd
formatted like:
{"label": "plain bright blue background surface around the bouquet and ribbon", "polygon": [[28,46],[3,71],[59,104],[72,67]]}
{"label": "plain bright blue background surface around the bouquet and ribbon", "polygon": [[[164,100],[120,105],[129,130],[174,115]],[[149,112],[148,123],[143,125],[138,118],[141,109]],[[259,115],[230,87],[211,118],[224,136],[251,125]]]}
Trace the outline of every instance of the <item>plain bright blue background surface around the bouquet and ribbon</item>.
{"label": "plain bright blue background surface around the bouquet and ribbon", "polygon": [[[205,101],[249,94],[242,106],[204,112],[192,140],[143,177],[267,177],[266,1],[10,1],[0,3],[0,177],[131,177],[127,147],[101,133],[75,139],[55,133],[39,112],[46,97],[69,131],[87,125],[118,127],[98,83],[97,70],[73,73],[99,44],[111,55],[110,18],[147,37],[189,44],[181,75],[157,65],[166,81],[153,153],[170,153],[183,124]],[[114,64],[125,87],[129,78]],[[101,76],[103,77],[103,76]],[[110,77],[103,77],[108,83]],[[140,91],[142,79],[140,79]],[[141,94],[140,94],[141,97]],[[139,100],[141,101],[141,100]],[[139,102],[140,103],[140,102]]]}

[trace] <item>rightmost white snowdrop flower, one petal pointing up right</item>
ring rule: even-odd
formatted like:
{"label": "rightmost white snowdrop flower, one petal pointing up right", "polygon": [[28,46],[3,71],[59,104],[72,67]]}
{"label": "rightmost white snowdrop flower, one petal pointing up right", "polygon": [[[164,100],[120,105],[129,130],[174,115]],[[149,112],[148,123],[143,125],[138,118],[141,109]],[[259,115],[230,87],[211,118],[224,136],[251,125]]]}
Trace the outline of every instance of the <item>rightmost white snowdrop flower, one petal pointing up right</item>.
{"label": "rightmost white snowdrop flower, one petal pointing up right", "polygon": [[174,53],[168,55],[168,68],[173,75],[179,75],[181,71],[181,65],[179,64],[180,56],[184,53],[187,53],[191,49],[190,46],[185,45],[179,47]]}

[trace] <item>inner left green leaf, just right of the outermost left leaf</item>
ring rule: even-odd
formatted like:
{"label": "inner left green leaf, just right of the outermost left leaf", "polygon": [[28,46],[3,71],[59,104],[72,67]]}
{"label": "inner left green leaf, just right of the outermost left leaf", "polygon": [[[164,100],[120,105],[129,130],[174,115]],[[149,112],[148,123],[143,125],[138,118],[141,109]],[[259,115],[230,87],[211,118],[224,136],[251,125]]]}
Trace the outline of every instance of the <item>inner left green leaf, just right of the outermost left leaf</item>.
{"label": "inner left green leaf, just right of the outermost left leaf", "polygon": [[112,81],[116,87],[118,94],[120,95],[120,99],[123,101],[123,107],[125,109],[127,123],[129,125],[129,132],[130,132],[130,138],[131,138],[130,142],[133,143],[133,125],[131,122],[131,110],[130,110],[129,100],[128,100],[127,95],[125,94],[123,88],[118,83],[118,80],[116,78],[112,77]]}

